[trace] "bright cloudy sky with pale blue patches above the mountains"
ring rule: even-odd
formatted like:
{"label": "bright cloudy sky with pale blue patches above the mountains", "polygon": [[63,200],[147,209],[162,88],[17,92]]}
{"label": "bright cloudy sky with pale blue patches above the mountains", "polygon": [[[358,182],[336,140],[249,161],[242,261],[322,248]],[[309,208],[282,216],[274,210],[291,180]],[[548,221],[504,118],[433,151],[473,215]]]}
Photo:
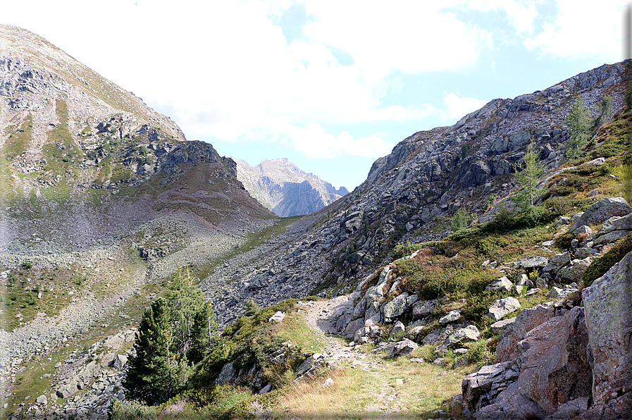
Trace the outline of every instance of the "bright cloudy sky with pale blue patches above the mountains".
{"label": "bright cloudy sky with pale blue patches above the mountains", "polygon": [[0,0],[37,33],[255,166],[335,187],[417,131],[623,58],[624,0]]}

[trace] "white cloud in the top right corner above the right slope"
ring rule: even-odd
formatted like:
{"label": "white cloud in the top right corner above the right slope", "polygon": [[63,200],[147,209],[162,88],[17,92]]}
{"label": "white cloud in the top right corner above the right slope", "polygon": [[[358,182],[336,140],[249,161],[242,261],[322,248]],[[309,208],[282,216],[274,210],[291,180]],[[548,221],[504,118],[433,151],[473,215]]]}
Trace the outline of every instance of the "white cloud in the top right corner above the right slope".
{"label": "white cloud in the top right corner above the right slope", "polygon": [[595,56],[604,61],[621,60],[621,11],[629,2],[602,0],[582,4],[557,0],[557,15],[546,20],[542,30],[523,44],[530,50],[557,57]]}

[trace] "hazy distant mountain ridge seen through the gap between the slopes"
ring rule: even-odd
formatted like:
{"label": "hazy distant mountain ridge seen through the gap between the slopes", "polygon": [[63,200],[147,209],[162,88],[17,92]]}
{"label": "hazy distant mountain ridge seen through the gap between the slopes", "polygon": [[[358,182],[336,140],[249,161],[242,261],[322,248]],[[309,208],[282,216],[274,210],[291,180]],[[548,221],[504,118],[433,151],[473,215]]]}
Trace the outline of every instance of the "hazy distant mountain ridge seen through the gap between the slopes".
{"label": "hazy distant mountain ridge seen through the gap between the slopes", "polygon": [[237,179],[264,207],[278,216],[311,214],[349,194],[285,158],[267,159],[257,166],[235,159]]}

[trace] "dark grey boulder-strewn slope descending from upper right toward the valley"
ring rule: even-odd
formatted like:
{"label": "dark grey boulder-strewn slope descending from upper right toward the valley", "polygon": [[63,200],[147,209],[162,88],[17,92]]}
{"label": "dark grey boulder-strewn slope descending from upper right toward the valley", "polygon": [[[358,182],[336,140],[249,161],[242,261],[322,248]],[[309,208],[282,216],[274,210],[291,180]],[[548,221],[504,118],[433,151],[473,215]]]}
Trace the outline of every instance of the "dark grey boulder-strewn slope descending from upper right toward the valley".
{"label": "dark grey boulder-strewn slope descending from upper right toward the valley", "polygon": [[[266,306],[326,287],[352,290],[388,263],[398,242],[449,234],[449,218],[458,209],[481,221],[499,211],[518,187],[514,164],[531,141],[547,173],[554,173],[564,163],[566,118],[578,95],[595,115],[609,95],[618,112],[626,80],[626,63],[605,65],[543,91],[494,99],[450,127],[416,132],[373,163],[354,194],[299,222],[302,235],[288,248],[262,255],[237,274],[213,273],[202,287],[230,278],[230,286],[207,290],[222,321],[234,319],[249,297]],[[279,293],[279,285],[286,292]],[[233,299],[222,299],[225,294]]]}

